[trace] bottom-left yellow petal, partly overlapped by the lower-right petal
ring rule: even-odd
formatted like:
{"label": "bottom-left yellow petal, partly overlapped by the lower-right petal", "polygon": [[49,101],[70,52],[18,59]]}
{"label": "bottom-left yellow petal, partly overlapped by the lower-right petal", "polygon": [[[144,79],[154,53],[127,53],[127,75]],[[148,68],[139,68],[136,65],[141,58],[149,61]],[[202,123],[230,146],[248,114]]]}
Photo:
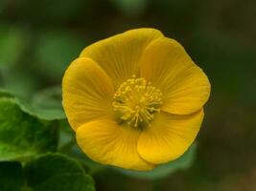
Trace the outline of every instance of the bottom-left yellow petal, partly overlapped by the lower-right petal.
{"label": "bottom-left yellow petal, partly overlapped by the lower-right petal", "polygon": [[81,125],[77,130],[77,141],[89,158],[100,163],[132,170],[151,170],[153,165],[137,152],[139,135],[139,131],[105,119]]}

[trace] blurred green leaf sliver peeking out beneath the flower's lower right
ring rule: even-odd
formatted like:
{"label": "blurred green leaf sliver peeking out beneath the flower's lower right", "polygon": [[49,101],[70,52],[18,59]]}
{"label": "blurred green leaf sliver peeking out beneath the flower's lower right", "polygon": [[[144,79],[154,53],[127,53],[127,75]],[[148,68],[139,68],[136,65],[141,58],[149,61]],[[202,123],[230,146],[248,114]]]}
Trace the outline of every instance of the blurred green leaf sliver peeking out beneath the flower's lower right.
{"label": "blurred green leaf sliver peeking out beneath the flower's lower right", "polygon": [[197,144],[193,144],[186,153],[181,156],[178,159],[175,159],[174,161],[171,161],[166,164],[159,165],[158,167],[154,168],[150,172],[134,172],[134,171],[128,171],[128,170],[121,170],[117,169],[118,171],[121,171],[122,173],[135,177],[138,179],[147,179],[147,180],[158,180],[163,179],[168,176],[170,176],[172,173],[174,173],[177,170],[186,169],[189,168],[195,158],[197,150]]}

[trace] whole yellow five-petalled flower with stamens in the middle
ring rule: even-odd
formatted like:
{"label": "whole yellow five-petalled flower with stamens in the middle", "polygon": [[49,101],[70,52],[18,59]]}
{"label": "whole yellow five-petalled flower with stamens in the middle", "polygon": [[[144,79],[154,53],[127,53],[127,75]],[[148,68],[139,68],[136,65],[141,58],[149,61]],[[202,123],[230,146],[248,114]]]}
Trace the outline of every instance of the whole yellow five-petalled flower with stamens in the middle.
{"label": "whole yellow five-petalled flower with stamens in the middle", "polygon": [[66,70],[62,91],[89,158],[143,171],[190,147],[210,83],[174,39],[138,29],[85,48]]}

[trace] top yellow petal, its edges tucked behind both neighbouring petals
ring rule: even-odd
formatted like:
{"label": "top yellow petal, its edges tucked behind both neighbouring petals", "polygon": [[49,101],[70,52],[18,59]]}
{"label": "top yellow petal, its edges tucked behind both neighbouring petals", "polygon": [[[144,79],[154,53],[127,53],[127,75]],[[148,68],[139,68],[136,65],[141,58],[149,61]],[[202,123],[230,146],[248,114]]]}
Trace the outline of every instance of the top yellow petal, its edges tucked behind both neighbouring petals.
{"label": "top yellow petal, its edges tucked behind both neighbouring petals", "polygon": [[153,29],[130,30],[101,40],[81,52],[96,61],[115,86],[139,72],[139,60],[152,40],[163,36]]}

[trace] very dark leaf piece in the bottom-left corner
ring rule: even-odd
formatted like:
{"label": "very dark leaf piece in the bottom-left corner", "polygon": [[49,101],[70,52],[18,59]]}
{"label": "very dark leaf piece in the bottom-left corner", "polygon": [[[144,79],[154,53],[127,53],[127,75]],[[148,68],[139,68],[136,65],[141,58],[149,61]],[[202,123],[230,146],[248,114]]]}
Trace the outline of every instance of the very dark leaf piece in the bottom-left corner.
{"label": "very dark leaf piece in the bottom-left corner", "polygon": [[0,162],[1,191],[21,191],[24,184],[23,169],[18,162]]}

